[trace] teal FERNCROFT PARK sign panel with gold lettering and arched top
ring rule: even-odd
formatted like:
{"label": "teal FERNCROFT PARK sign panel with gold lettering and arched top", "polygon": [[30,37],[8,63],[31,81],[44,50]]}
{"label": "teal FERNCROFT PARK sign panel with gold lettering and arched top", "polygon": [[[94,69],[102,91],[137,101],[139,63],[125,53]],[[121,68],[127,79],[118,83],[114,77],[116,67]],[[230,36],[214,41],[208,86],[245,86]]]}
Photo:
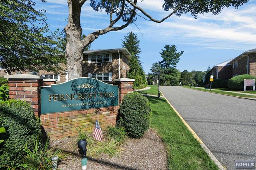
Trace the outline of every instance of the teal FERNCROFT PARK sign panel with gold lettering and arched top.
{"label": "teal FERNCROFT PARK sign panel with gold lettering and arched top", "polygon": [[94,78],[76,78],[41,88],[41,113],[118,106],[118,86]]}

